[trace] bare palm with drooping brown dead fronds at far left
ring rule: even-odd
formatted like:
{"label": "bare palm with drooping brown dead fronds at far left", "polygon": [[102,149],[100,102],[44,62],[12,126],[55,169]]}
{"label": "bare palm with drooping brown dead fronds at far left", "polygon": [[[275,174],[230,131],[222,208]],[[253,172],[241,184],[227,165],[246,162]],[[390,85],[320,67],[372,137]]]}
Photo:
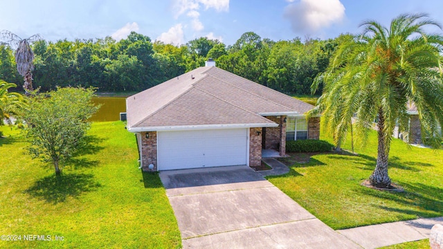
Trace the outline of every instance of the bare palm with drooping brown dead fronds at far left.
{"label": "bare palm with drooping brown dead fronds at far left", "polygon": [[17,64],[17,71],[21,76],[24,76],[23,89],[26,95],[30,95],[33,89],[33,74],[34,70],[34,53],[30,48],[30,43],[40,39],[40,35],[33,35],[26,39],[21,39],[19,36],[11,33],[8,30],[3,30],[0,33],[0,37],[6,40],[6,43],[11,46],[17,46],[15,50],[15,63]]}

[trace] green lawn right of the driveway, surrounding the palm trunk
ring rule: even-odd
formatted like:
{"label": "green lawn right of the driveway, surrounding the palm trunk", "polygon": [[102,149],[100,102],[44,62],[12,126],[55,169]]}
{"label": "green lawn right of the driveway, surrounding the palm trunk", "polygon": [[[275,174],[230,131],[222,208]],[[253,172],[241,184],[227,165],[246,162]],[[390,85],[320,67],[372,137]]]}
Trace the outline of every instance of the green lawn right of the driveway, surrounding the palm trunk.
{"label": "green lawn right of the driveway, surrounding the palm trunk", "polygon": [[[325,136],[321,139],[332,142]],[[349,149],[349,144],[343,147]],[[293,163],[286,175],[267,178],[334,229],[443,216],[443,151],[392,140],[389,174],[393,183],[404,187],[403,193],[360,185],[374,170],[375,132],[365,148],[355,151],[358,156],[312,156],[309,163]]]}

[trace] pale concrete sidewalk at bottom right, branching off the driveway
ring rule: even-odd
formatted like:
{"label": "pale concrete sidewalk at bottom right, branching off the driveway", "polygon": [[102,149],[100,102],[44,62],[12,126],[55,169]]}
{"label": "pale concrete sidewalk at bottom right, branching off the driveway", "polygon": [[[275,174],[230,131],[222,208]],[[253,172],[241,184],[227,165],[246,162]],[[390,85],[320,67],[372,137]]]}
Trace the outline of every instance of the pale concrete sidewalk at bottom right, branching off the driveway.
{"label": "pale concrete sidewalk at bottom right, branching off the driveway", "polygon": [[428,239],[433,225],[443,224],[443,217],[398,221],[359,228],[336,230],[359,246],[370,249]]}

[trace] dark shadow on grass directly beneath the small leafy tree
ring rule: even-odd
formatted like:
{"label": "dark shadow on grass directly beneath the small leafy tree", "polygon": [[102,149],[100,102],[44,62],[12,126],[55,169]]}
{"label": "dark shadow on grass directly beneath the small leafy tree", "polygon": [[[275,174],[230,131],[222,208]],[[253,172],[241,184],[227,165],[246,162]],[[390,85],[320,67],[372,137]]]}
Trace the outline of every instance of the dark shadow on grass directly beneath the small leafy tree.
{"label": "dark shadow on grass directly beneath the small leafy tree", "polygon": [[61,176],[46,176],[36,181],[26,190],[26,194],[48,203],[57,204],[66,201],[66,198],[78,197],[84,192],[91,192],[101,187],[94,181],[93,174],[62,174]]}

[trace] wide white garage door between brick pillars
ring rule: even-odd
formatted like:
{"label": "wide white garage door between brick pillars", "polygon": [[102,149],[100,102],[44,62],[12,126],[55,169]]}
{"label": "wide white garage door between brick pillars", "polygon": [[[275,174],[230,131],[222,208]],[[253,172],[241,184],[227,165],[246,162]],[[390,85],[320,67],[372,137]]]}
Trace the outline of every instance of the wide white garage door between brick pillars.
{"label": "wide white garage door between brick pillars", "polygon": [[247,131],[159,131],[159,170],[246,165]]}

